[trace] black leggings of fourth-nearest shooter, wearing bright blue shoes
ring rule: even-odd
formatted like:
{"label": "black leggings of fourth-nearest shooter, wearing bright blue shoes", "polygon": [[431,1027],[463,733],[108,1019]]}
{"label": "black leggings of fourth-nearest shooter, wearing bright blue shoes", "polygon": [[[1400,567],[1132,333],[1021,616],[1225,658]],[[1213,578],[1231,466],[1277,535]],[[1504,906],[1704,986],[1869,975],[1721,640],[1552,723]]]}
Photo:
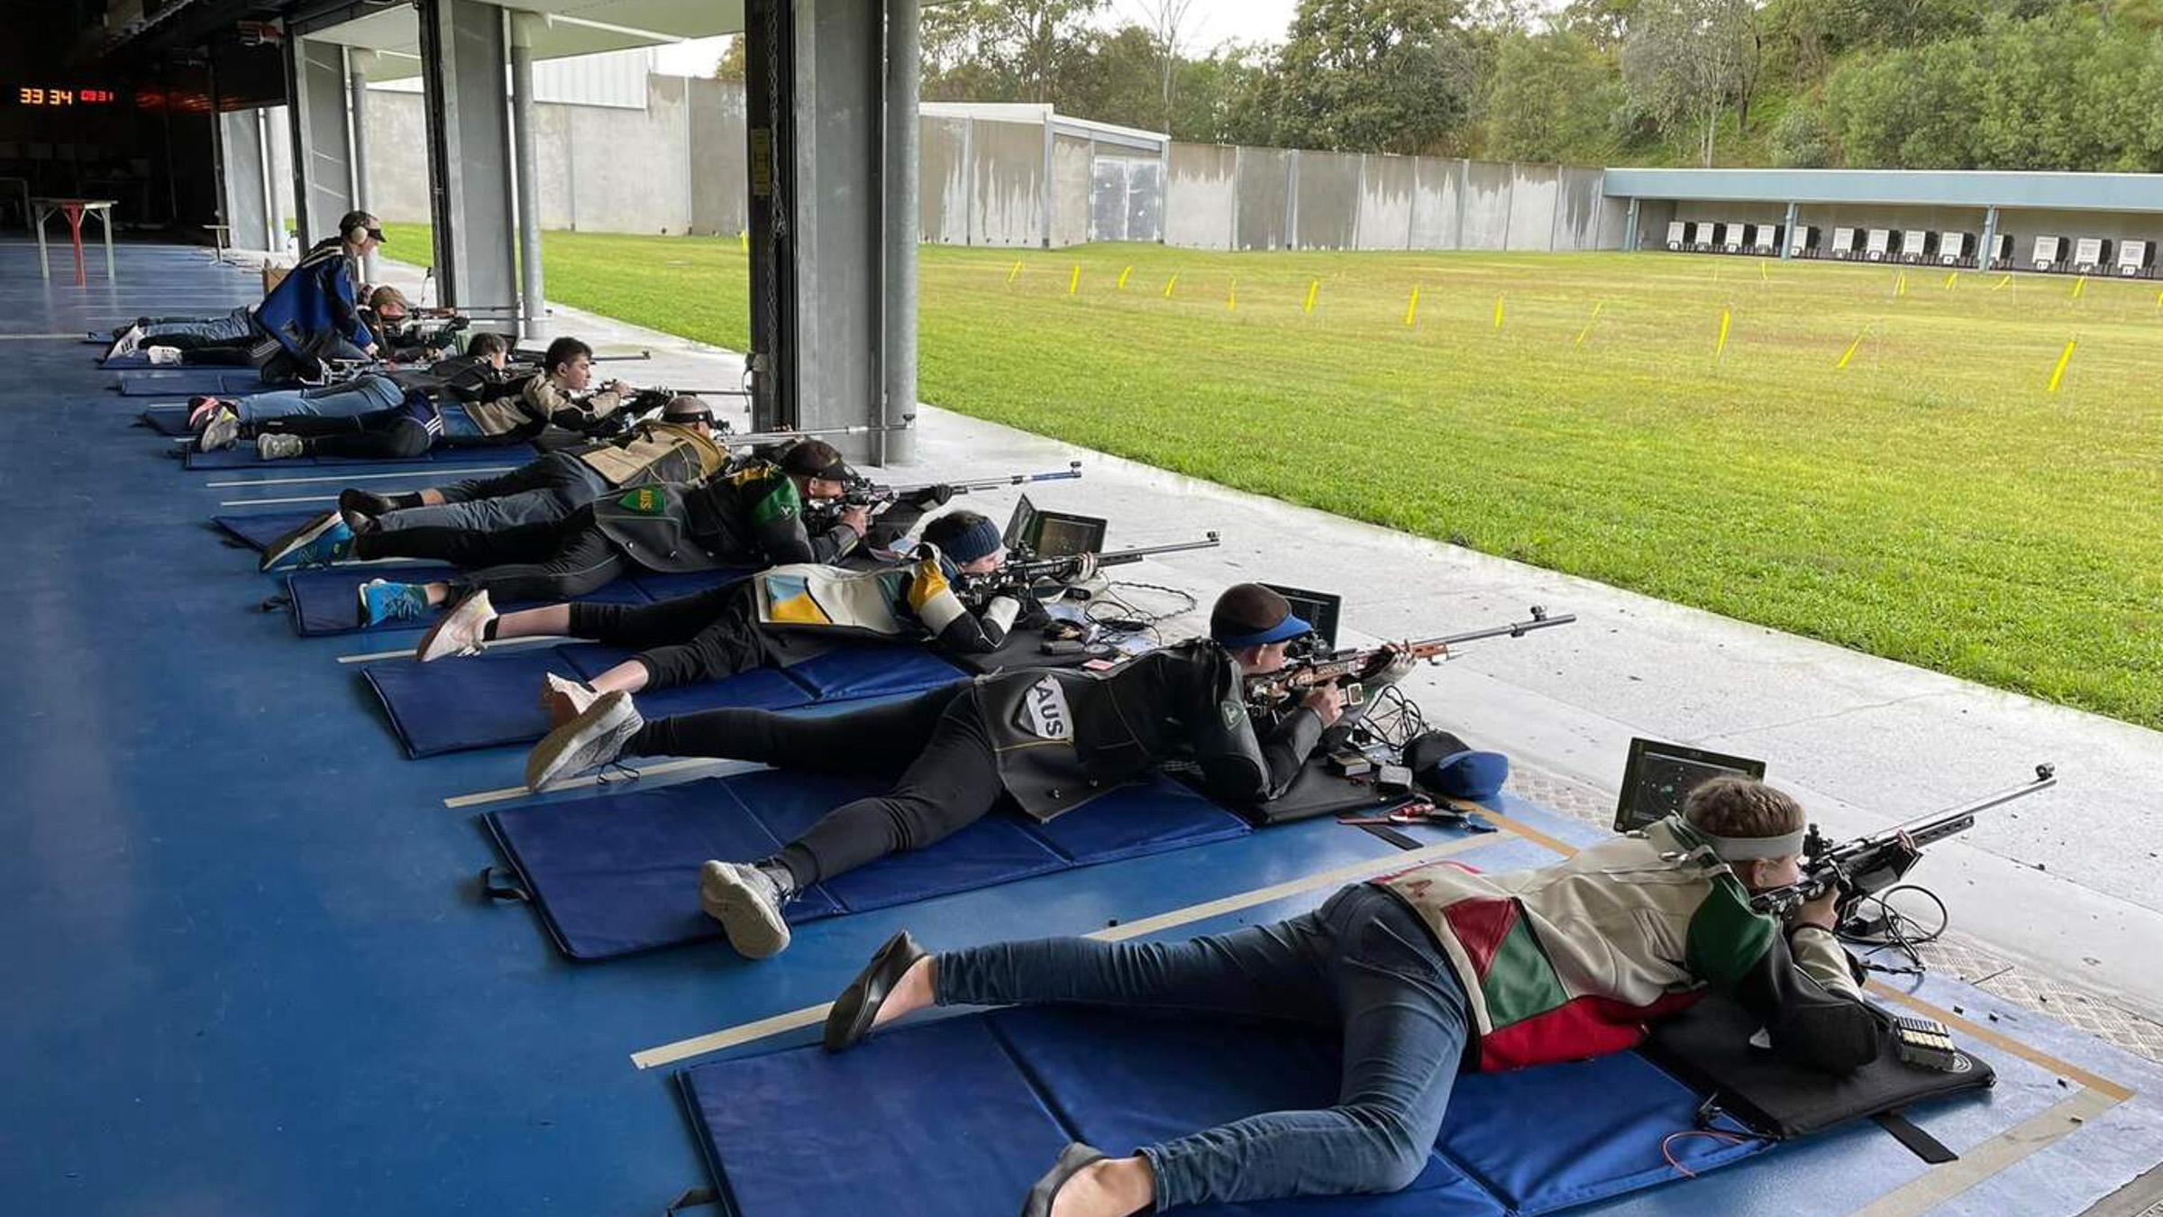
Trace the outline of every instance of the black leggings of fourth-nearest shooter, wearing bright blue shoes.
{"label": "black leggings of fourth-nearest shooter, wearing bright blue shoes", "polygon": [[632,559],[593,522],[593,509],[500,533],[472,528],[396,528],[353,537],[357,559],[441,559],[459,580],[504,600],[575,600],[634,570]]}

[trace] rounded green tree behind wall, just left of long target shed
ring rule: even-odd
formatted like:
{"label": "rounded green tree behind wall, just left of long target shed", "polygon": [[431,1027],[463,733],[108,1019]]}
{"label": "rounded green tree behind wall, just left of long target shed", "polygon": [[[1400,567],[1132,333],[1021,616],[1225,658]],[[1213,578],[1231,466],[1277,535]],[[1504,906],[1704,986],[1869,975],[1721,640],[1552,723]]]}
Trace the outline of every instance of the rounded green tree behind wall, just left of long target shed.
{"label": "rounded green tree behind wall, just left of long target shed", "polygon": [[1497,50],[1488,80],[1488,156],[1605,162],[1614,152],[1622,82],[1590,37],[1570,28],[1514,32]]}

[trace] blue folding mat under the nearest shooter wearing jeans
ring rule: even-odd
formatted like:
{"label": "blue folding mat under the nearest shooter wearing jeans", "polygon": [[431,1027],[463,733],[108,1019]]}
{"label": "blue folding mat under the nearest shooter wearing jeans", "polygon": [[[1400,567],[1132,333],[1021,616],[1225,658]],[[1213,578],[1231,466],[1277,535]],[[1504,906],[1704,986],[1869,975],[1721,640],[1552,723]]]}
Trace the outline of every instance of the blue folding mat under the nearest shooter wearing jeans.
{"label": "blue folding mat under the nearest shooter wearing jeans", "polygon": [[[1263,1111],[1337,1102],[1335,1035],[1133,1011],[999,1009],[850,1052],[796,1048],[677,1074],[716,1189],[738,1217],[846,1217],[906,1195],[911,1217],[1019,1206],[1066,1141],[1110,1154]],[[1702,1096],[1644,1057],[1464,1074],[1425,1169],[1384,1195],[1181,1208],[1216,1217],[1531,1217],[1767,1152],[1676,1137]],[[1715,1128],[1741,1133],[1724,1115]]]}

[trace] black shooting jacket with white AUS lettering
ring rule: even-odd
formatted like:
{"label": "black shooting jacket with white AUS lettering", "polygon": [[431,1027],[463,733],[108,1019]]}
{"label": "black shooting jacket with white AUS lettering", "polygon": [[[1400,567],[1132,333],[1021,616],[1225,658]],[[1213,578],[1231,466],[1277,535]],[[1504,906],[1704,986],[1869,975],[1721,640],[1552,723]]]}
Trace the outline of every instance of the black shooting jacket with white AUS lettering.
{"label": "black shooting jacket with white AUS lettering", "polygon": [[1196,762],[1207,790],[1224,801],[1283,795],[1322,738],[1322,719],[1300,706],[1257,730],[1239,680],[1231,652],[1192,639],[1105,671],[980,676],[973,695],[1006,790],[1023,812],[1049,821],[1166,760]]}

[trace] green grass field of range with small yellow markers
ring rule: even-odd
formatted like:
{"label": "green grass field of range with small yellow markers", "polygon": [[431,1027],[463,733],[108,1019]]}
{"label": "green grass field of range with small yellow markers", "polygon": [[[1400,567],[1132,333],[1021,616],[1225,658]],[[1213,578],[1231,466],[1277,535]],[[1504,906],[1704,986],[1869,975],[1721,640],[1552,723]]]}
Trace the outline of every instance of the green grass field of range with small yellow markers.
{"label": "green grass field of range with small yellow markers", "polygon": [[[2163,728],[2157,284],[1155,245],[921,266],[932,405]],[[746,344],[733,238],[549,234],[547,288]]]}

